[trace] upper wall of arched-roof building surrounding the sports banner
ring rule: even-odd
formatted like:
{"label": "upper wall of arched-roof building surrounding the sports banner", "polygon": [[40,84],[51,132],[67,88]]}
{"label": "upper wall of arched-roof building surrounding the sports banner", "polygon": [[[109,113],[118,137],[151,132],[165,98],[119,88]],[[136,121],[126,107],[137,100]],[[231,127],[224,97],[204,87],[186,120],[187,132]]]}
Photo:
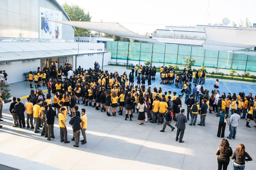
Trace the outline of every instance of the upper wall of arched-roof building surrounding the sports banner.
{"label": "upper wall of arched-roof building surrounding the sports banner", "polygon": [[[61,11],[50,0],[0,0],[0,4],[5,10],[0,10],[0,37],[38,39],[41,22],[39,7]],[[62,20],[68,20],[63,12]],[[62,39],[74,40],[72,26],[62,25]]]}

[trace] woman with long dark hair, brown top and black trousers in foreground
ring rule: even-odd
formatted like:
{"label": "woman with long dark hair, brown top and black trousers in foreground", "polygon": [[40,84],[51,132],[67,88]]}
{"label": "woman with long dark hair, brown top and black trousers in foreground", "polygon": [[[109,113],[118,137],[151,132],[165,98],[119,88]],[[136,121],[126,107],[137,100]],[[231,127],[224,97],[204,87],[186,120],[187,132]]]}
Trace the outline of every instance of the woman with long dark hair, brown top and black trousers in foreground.
{"label": "woman with long dark hair, brown top and black trousers in foreground", "polygon": [[232,156],[232,148],[229,146],[227,139],[222,139],[220,146],[216,151],[216,155],[218,155],[218,170],[227,170],[229,164],[229,157]]}

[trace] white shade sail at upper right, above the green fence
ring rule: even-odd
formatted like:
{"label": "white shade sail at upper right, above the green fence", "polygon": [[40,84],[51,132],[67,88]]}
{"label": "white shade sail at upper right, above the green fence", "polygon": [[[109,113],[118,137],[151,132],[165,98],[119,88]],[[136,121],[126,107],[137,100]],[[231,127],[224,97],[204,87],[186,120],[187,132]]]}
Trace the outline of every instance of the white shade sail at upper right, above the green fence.
{"label": "white shade sail at upper right, above the green fence", "polygon": [[205,27],[204,49],[233,51],[256,47],[256,30]]}

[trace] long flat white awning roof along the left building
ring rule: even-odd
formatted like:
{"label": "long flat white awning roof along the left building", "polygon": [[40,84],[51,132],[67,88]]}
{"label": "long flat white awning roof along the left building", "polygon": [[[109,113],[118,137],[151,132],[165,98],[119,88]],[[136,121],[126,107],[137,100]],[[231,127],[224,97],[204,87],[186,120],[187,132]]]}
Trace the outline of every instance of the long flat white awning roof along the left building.
{"label": "long flat white awning roof along the left building", "polygon": [[0,62],[106,53],[75,42],[0,42]]}

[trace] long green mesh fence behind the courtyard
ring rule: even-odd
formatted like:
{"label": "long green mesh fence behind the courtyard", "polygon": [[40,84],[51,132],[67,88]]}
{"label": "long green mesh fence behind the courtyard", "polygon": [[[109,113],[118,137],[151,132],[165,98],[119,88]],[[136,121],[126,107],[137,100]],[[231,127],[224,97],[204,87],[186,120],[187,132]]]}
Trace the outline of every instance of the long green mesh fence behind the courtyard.
{"label": "long green mesh fence behind the courtyard", "polygon": [[256,56],[208,50],[197,46],[107,41],[107,51],[111,52],[112,59],[127,60],[128,57],[128,61],[184,64],[184,58],[190,57],[196,59],[195,66],[256,71]]}

